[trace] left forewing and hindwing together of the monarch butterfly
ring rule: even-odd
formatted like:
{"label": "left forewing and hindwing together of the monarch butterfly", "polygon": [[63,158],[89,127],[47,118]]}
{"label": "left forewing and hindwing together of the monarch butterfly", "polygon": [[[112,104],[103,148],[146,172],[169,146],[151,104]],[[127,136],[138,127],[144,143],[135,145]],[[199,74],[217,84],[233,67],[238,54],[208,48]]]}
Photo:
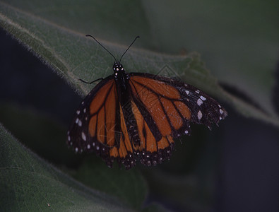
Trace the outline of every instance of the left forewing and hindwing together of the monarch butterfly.
{"label": "left forewing and hindwing together of the monarch butterfly", "polygon": [[133,167],[133,148],[112,76],[98,83],[81,102],[69,128],[67,143],[76,153],[94,151],[109,167],[114,160],[126,168]]}

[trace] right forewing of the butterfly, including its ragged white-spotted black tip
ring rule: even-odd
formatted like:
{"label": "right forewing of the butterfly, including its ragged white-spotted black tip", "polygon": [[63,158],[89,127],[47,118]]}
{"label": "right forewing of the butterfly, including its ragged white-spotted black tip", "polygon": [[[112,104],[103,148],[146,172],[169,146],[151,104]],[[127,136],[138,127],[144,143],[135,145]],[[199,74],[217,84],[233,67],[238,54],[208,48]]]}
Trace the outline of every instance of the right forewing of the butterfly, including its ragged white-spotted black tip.
{"label": "right forewing of the butterfly, including its ragged white-spotted black tip", "polygon": [[[132,90],[145,102],[143,105],[146,105],[149,111],[158,112],[158,119],[165,117],[162,121],[165,122],[165,128],[161,127],[160,130],[165,134],[170,134],[170,129],[174,137],[180,136],[180,133],[188,134],[189,122],[210,127],[212,123],[218,124],[227,116],[225,109],[216,100],[186,83],[150,73],[131,73],[131,81],[132,87],[141,84],[141,89]],[[154,97],[148,98],[151,93]],[[167,125],[169,126],[166,127]]]}

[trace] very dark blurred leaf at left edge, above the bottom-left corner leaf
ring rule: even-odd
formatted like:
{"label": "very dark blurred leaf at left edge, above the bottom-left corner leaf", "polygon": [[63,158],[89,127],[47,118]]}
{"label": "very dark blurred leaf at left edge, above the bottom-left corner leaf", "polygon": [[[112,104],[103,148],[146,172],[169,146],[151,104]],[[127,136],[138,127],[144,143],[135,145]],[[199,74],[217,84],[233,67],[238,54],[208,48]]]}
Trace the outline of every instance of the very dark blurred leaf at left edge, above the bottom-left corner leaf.
{"label": "very dark blurred leaf at left edge, above the bottom-left corner leaf", "polygon": [[79,161],[66,146],[64,124],[47,114],[11,102],[1,103],[0,122],[32,152],[56,165],[69,166]]}

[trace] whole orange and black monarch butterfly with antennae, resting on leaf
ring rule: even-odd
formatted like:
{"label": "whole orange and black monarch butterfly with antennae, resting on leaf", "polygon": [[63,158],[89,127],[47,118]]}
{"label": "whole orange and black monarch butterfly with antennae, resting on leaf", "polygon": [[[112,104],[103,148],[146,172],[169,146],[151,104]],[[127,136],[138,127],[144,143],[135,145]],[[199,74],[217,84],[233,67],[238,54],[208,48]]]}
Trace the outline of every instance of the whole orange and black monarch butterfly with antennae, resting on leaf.
{"label": "whole orange and black monarch butterfly with antennae, resting on leaf", "polygon": [[76,152],[94,151],[109,167],[114,160],[126,169],[136,160],[157,165],[170,158],[173,139],[190,134],[190,122],[210,128],[227,116],[217,101],[193,86],[150,73],[127,73],[121,64],[124,54],[119,61],[111,54],[114,73],[97,79],[101,81],[76,110],[67,133]]}

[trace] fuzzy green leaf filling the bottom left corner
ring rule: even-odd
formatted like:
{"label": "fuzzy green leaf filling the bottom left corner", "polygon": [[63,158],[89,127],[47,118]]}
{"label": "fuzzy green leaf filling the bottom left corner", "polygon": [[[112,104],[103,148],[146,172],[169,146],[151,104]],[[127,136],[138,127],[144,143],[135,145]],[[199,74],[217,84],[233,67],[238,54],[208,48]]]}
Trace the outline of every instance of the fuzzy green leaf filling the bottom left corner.
{"label": "fuzzy green leaf filling the bottom left corner", "polygon": [[129,211],[31,153],[0,124],[1,211]]}

